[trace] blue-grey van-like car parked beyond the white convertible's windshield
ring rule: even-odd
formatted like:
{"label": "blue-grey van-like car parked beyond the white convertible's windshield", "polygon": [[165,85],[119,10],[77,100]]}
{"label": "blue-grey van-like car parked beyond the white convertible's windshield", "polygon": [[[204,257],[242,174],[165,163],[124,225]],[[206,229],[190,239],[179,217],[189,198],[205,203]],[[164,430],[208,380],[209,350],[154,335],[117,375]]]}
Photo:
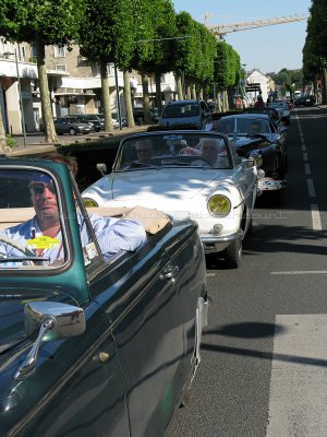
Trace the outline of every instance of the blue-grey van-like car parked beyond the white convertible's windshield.
{"label": "blue-grey van-like car parked beyond the white convertible's windshield", "polygon": [[211,113],[204,101],[170,101],[162,109],[158,126],[162,128],[202,129]]}

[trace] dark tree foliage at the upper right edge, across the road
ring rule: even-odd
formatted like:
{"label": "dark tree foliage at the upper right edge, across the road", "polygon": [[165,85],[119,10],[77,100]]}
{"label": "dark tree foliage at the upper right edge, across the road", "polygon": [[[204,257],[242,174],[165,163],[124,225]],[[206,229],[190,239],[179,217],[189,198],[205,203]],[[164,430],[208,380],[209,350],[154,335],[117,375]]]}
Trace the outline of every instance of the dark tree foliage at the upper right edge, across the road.
{"label": "dark tree foliage at the upper right edge, across the road", "polygon": [[312,0],[303,47],[303,75],[314,84],[322,83],[322,99],[327,104],[327,2]]}

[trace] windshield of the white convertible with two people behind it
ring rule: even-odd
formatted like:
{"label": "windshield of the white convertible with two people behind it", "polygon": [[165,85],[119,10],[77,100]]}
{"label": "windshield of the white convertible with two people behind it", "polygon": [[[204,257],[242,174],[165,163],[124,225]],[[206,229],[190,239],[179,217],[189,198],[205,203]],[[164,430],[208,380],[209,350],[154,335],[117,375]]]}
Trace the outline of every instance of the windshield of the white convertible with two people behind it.
{"label": "windshield of the white convertible with two people behind it", "polygon": [[114,170],[179,168],[231,168],[227,140],[219,134],[156,133],[122,142]]}

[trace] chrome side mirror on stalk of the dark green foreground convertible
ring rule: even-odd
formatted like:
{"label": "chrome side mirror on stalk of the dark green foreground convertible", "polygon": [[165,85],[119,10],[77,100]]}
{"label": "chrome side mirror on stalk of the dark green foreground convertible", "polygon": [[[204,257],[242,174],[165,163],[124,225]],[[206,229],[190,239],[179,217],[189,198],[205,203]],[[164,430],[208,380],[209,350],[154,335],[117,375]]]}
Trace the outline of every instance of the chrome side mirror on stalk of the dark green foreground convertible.
{"label": "chrome side mirror on stalk of the dark green foreground convertible", "polygon": [[[39,329],[28,355],[14,374],[24,379],[35,370],[38,350],[43,340],[80,335],[85,331],[85,314],[80,307],[57,302],[32,302],[25,305],[25,330],[31,335]],[[47,335],[49,333],[49,335]]]}

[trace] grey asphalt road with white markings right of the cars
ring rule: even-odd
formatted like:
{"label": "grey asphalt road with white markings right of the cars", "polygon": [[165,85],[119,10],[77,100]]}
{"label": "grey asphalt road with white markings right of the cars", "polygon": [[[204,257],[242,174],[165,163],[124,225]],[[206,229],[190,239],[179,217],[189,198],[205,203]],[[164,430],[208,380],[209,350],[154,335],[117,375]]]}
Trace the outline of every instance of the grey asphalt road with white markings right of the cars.
{"label": "grey asphalt road with white markings right of the cars", "polygon": [[327,109],[298,108],[280,205],[257,201],[239,270],[207,258],[202,363],[168,437],[327,435]]}

